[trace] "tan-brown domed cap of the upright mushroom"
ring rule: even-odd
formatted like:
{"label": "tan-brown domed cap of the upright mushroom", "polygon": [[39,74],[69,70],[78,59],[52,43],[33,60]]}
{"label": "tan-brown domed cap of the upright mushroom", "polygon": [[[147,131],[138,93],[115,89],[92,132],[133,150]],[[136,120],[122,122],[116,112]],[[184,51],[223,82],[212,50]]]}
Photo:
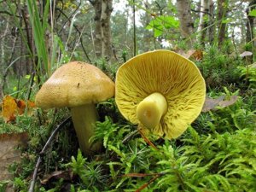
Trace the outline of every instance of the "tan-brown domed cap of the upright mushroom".
{"label": "tan-brown domed cap of the upright mushroom", "polygon": [[113,81],[99,68],[72,61],[55,70],[35,100],[37,107],[46,109],[103,102],[113,95]]}

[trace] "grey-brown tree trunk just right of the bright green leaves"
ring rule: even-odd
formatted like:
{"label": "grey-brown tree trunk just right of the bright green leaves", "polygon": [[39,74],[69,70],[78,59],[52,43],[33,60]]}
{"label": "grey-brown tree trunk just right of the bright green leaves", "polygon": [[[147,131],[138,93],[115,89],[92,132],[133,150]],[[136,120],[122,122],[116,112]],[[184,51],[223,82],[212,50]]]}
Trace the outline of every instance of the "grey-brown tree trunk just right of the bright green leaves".
{"label": "grey-brown tree trunk just right of the bright green leaves", "polygon": [[180,29],[183,38],[189,38],[191,43],[189,45],[192,45],[193,40],[190,38],[190,35],[194,32],[194,23],[189,0],[177,0],[177,17],[180,21]]}

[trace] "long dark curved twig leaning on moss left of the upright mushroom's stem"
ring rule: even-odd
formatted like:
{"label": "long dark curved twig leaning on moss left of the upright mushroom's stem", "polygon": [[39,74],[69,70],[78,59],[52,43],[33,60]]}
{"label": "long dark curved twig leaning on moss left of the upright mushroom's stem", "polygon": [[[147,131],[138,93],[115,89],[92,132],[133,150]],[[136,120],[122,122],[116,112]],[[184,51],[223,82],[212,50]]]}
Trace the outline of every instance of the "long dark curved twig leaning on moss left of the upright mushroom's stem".
{"label": "long dark curved twig leaning on moss left of the upright mushroom's stem", "polygon": [[61,130],[61,128],[67,124],[67,122],[69,122],[71,120],[71,117],[68,117],[67,119],[65,119],[60,125],[58,125],[55,129],[55,131],[53,131],[49,137],[49,139],[47,140],[47,142],[44,145],[44,148],[41,150],[41,152],[39,153],[39,157],[38,157],[38,161],[37,164],[35,166],[34,172],[33,172],[33,176],[32,176],[32,181],[30,183],[30,187],[28,192],[33,192],[34,191],[34,187],[35,187],[35,183],[36,183],[36,179],[38,177],[38,169],[39,169],[39,165],[42,161],[42,156],[44,155],[45,151],[47,148],[49,148],[49,144],[54,140],[55,135],[57,134],[58,131]]}

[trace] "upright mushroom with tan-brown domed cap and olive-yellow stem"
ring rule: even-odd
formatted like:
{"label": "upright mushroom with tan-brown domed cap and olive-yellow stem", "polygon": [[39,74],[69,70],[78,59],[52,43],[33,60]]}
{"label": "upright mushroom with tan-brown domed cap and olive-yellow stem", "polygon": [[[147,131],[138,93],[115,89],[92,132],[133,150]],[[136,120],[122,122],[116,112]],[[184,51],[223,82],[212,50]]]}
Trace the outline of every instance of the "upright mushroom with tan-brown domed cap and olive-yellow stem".
{"label": "upright mushroom with tan-brown domed cap and olive-yellow stem", "polygon": [[113,81],[105,73],[90,64],[73,61],[55,70],[38,91],[35,102],[43,109],[69,107],[79,147],[84,154],[90,154],[101,146],[89,141],[97,119],[95,103],[113,95]]}

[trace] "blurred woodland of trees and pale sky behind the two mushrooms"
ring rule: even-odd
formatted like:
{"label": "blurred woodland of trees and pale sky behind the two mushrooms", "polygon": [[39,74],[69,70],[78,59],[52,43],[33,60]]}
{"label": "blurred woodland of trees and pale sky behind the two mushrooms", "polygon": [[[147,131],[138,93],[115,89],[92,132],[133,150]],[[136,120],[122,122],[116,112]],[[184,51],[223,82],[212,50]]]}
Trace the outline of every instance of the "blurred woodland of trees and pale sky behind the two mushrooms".
{"label": "blurred woodland of trees and pale sky behind the two mushrooms", "polygon": [[[131,58],[134,39],[132,1],[54,2],[45,0],[36,3],[41,24],[44,11],[49,9],[43,37],[49,70],[53,71],[61,63],[71,60],[98,64],[102,62],[98,59],[106,56],[113,58],[114,55],[113,62]],[[225,40],[234,45],[237,54],[243,49],[252,50],[247,42],[254,42],[253,2],[202,0],[199,3],[186,0],[173,4],[166,0],[135,1],[137,53],[176,47],[191,49],[200,44],[207,48],[210,44],[224,44]],[[124,9],[118,10],[113,3],[124,3]],[[251,13],[248,17],[246,10]],[[1,77],[4,79],[6,72],[17,78],[30,77],[41,66],[42,59],[38,59],[40,54],[34,41],[35,30],[27,2],[1,1],[0,16]],[[199,32],[201,40],[195,38],[195,32]],[[42,78],[44,81],[46,77]],[[2,79],[4,92],[9,84],[3,83]],[[16,87],[20,86],[24,85],[19,83]]]}

